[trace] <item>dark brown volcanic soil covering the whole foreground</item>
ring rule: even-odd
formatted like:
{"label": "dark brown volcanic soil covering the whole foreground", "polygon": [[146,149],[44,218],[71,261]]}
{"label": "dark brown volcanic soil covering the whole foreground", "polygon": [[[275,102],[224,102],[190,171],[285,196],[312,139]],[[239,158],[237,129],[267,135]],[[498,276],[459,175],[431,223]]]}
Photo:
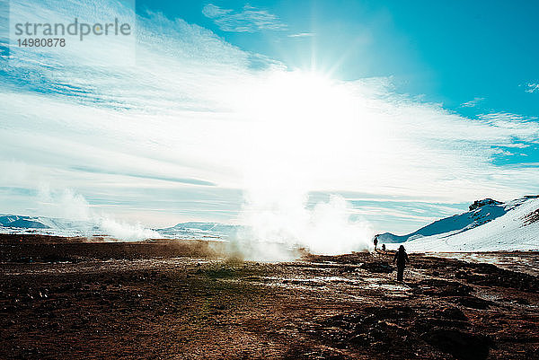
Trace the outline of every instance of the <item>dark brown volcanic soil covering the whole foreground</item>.
{"label": "dark brown volcanic soil covering the whole foreground", "polygon": [[214,245],[0,237],[0,358],[539,358],[535,276],[411,255],[401,284],[389,253]]}

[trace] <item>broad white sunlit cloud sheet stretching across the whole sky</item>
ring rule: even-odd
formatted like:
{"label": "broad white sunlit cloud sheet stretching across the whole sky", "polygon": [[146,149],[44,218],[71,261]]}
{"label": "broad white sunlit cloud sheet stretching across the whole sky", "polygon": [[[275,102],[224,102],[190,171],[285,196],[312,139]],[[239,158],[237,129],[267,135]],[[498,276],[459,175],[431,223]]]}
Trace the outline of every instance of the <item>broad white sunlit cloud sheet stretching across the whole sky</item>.
{"label": "broad white sunlit cloud sheet stretching across the whole sky", "polygon": [[[119,6],[102,3],[110,11]],[[66,15],[62,4],[46,1],[35,11]],[[12,12],[23,8],[11,2]],[[216,6],[208,12],[217,20],[235,14]],[[332,214],[314,211],[331,203],[313,204],[315,192],[345,200],[361,192],[414,208],[430,202],[441,212],[538,185],[534,167],[495,161],[504,156],[496,148],[539,141],[533,118],[496,112],[470,119],[393,92],[391,78],[340,82],[289,71],[161,13],[138,14],[137,66],[84,66],[84,53],[69,49],[35,54],[13,49],[10,66],[1,55],[0,187],[74,189],[119,221],[241,222],[270,209],[278,217],[293,211],[298,224],[308,224],[320,212]],[[31,201],[19,191],[0,206],[38,211]],[[340,201],[331,208],[338,222],[356,224],[342,213],[359,213],[381,218],[380,227],[407,212]],[[425,222],[413,216],[414,226]],[[289,224],[296,226],[292,218]]]}

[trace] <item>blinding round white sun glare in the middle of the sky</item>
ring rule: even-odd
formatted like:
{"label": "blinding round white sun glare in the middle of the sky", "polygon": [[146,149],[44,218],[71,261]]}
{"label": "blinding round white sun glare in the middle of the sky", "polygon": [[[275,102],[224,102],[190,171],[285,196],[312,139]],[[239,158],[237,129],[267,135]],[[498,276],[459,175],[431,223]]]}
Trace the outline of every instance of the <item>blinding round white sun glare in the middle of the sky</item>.
{"label": "blinding round white sun glare in the middle of the sky", "polygon": [[[244,169],[256,177],[252,181],[293,173],[309,190],[333,188],[336,174],[351,175],[359,162],[374,159],[379,125],[366,121],[366,101],[339,81],[311,72],[275,72],[249,89],[248,98],[242,106],[252,127],[252,153],[245,155]],[[339,181],[346,179],[357,177]]]}

